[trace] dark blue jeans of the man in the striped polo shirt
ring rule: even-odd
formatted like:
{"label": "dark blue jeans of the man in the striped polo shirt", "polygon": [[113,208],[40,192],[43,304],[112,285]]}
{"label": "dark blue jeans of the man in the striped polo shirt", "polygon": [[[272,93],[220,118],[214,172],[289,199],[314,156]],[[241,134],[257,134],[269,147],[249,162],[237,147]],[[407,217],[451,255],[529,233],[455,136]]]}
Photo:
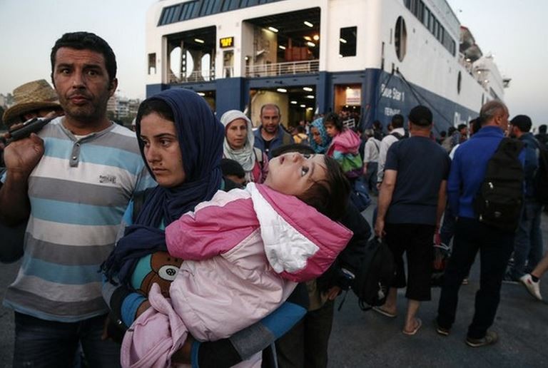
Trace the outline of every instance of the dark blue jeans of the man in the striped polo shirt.
{"label": "dark blue jeans of the man in the striped polo shirt", "polygon": [[88,367],[120,367],[120,345],[101,340],[105,319],[54,322],[15,312],[14,367],[73,367],[78,342]]}

